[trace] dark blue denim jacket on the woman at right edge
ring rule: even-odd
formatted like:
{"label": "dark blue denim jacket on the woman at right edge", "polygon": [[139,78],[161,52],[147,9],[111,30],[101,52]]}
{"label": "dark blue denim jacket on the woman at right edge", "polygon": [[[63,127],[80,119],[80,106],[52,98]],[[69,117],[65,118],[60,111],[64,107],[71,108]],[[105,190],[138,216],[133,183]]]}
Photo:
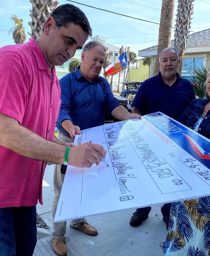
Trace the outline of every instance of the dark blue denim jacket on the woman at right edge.
{"label": "dark blue denim jacket on the woman at right edge", "polygon": [[[209,100],[210,99],[193,100],[178,121],[183,125],[193,129],[194,125],[198,121],[198,118],[202,115],[204,107],[209,102]],[[206,113],[206,116],[200,123],[198,133],[210,139],[210,110]]]}

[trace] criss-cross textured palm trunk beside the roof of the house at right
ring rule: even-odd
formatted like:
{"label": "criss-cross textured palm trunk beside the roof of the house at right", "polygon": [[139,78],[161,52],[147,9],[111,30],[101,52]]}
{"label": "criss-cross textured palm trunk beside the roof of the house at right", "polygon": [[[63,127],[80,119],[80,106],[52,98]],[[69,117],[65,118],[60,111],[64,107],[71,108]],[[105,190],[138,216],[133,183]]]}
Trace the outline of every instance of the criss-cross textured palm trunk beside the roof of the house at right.
{"label": "criss-cross textured palm trunk beside the roof of the house at right", "polygon": [[175,25],[175,49],[179,52],[179,68],[178,73],[181,75],[182,62],[186,48],[187,39],[190,33],[191,16],[193,14],[194,0],[178,0],[176,25]]}

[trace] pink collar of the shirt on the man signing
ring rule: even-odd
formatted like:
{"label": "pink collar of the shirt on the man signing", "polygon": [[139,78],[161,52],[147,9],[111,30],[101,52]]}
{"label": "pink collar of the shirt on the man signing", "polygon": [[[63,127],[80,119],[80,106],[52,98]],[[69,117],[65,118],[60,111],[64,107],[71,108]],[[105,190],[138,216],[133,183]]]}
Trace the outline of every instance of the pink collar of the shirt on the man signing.
{"label": "pink collar of the shirt on the man signing", "polygon": [[44,58],[44,55],[41,52],[38,45],[35,43],[35,40],[30,39],[27,43],[30,45],[30,47],[32,49],[32,52],[34,54],[34,57],[36,59],[37,65],[38,65],[38,69],[40,69],[40,70],[49,70],[48,66],[47,66],[47,62]]}

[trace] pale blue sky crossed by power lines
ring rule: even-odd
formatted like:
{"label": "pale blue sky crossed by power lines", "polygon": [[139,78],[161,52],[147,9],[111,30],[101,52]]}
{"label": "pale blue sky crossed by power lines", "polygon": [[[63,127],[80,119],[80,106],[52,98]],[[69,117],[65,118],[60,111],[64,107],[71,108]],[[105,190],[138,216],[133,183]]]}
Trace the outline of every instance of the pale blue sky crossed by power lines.
{"label": "pale blue sky crossed by power lines", "polygon": [[[160,10],[157,9],[161,9],[161,0],[77,0],[77,2],[158,23],[160,21]],[[175,13],[177,2],[178,1],[176,0]],[[66,0],[60,0],[59,3],[74,4]],[[138,50],[155,45],[158,42],[159,25],[107,13],[79,4],[75,5],[86,14],[93,30],[93,36],[101,35],[108,39],[107,43],[118,47],[121,47],[121,45],[124,44],[125,46],[130,46],[131,50],[137,53]],[[13,23],[10,20],[12,14],[23,19],[27,40],[29,39],[28,32],[30,32],[30,27],[28,22],[31,20],[31,17],[29,16],[30,8],[32,9],[32,5],[29,0],[2,1],[0,9],[0,47],[7,44],[13,44],[12,35],[8,35],[10,28],[13,26]],[[210,0],[195,0],[191,25],[192,31],[198,32],[210,28],[210,18],[208,18],[209,10]],[[172,39],[173,36],[174,31],[172,31]]]}

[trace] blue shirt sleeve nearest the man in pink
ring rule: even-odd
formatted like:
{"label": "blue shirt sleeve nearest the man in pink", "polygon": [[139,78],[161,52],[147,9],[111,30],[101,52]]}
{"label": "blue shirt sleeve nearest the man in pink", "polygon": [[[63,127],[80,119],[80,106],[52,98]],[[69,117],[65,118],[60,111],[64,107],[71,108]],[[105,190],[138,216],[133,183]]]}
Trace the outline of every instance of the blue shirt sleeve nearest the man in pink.
{"label": "blue shirt sleeve nearest the man in pink", "polygon": [[71,79],[69,76],[64,76],[59,81],[60,90],[61,90],[61,105],[59,116],[57,119],[56,127],[65,132],[65,129],[62,128],[61,124],[64,120],[71,120]]}

